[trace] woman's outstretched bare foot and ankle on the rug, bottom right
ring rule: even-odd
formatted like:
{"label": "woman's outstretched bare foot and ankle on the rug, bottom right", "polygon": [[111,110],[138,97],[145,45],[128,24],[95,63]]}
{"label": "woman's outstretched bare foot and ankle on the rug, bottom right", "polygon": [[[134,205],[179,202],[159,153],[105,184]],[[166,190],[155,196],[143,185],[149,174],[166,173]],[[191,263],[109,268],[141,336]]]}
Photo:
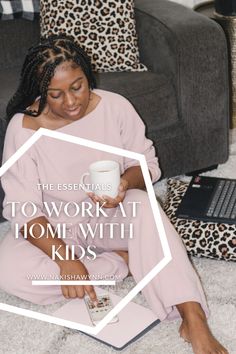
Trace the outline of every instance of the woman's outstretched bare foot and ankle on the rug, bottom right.
{"label": "woman's outstretched bare foot and ankle on the rug, bottom right", "polygon": [[229,354],[212,335],[200,304],[186,302],[177,308],[183,318],[180,336],[191,343],[194,354]]}

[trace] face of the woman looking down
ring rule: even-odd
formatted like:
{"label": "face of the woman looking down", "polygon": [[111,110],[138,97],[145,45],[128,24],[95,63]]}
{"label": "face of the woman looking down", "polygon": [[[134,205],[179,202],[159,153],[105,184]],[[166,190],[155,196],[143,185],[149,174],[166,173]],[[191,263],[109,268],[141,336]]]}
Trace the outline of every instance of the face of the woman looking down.
{"label": "face of the woman looking down", "polygon": [[48,86],[47,103],[53,118],[78,120],[86,115],[90,89],[79,66],[71,62],[58,65]]}

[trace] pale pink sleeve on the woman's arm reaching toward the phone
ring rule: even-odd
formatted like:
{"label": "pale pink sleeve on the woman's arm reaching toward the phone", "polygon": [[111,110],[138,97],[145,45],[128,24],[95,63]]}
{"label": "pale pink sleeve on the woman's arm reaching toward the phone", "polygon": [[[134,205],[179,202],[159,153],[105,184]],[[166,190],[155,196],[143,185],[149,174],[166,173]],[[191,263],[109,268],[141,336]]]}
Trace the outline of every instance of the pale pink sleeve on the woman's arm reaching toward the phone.
{"label": "pale pink sleeve on the woman's arm reaching toward the phone", "polygon": [[[3,149],[3,165],[14,155],[30,135],[17,124],[18,115],[9,123]],[[12,226],[20,227],[43,213],[42,191],[38,189],[39,175],[32,147],[1,177],[5,192],[3,216]]]}

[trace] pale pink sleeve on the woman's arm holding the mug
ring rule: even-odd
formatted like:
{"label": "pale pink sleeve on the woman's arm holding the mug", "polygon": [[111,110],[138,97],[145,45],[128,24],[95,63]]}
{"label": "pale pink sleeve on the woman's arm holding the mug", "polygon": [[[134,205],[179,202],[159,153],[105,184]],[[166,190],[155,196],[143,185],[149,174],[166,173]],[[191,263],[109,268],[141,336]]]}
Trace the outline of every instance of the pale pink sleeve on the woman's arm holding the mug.
{"label": "pale pink sleeve on the woman's arm holding the mug", "polygon": [[[154,183],[160,178],[161,171],[153,143],[145,136],[145,125],[134,107],[126,99],[122,100],[122,109],[120,111],[120,134],[123,147],[126,150],[145,155],[152,182]],[[135,159],[124,159],[125,170],[138,164]]]}

